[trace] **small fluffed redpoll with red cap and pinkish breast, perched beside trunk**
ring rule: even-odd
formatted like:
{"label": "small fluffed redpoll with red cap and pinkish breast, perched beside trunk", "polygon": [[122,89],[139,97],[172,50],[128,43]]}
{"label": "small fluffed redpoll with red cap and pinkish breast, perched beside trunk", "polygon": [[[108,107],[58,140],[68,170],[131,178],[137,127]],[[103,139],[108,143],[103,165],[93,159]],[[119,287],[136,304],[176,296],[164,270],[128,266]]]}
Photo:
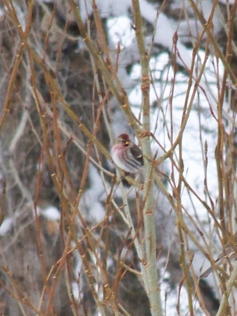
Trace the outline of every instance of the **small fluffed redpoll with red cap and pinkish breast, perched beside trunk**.
{"label": "small fluffed redpoll with red cap and pinkish breast, perched beside trunk", "polygon": [[117,137],[111,156],[114,163],[125,172],[137,173],[144,164],[141,149],[131,141],[127,133]]}

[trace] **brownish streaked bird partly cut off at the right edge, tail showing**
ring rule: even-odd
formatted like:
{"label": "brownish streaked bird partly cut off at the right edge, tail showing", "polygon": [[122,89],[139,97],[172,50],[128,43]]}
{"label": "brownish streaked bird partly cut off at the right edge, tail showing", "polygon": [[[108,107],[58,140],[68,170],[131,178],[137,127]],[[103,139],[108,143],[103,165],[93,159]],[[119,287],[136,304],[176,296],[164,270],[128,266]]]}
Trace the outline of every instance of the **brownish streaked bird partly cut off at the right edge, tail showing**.
{"label": "brownish streaked bird partly cut off at the right edge, tail showing", "polygon": [[[235,246],[237,247],[237,232],[233,235]],[[227,258],[231,261],[233,259],[237,259],[237,252],[234,250],[233,246],[231,246],[229,243],[226,244],[225,250],[222,251],[217,259],[215,260],[216,266],[219,266],[221,264],[224,264],[227,262]],[[199,277],[200,278],[206,278],[209,276],[209,274],[213,271],[213,267],[210,266],[208,269],[206,269]]]}

